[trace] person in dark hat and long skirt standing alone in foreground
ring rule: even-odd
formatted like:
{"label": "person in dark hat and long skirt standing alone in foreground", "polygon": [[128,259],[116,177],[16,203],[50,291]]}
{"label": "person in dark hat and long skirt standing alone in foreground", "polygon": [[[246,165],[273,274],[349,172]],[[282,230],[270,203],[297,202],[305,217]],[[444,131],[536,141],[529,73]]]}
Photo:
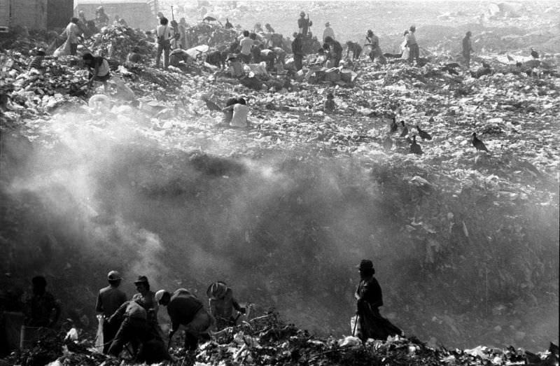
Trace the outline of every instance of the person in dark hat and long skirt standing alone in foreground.
{"label": "person in dark hat and long skirt standing alone in foreground", "polygon": [[383,295],[379,282],[373,276],[373,262],[361,260],[357,267],[360,272],[360,283],[354,293],[360,325],[357,337],[365,342],[370,338],[385,340],[388,336],[402,335],[402,330],[379,314],[379,307],[383,306]]}

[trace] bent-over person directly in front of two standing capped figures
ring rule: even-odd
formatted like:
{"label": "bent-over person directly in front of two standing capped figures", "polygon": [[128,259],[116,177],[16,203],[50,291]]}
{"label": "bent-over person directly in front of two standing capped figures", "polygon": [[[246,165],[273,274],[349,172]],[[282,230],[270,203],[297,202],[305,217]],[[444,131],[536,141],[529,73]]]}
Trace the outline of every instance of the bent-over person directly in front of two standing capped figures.
{"label": "bent-over person directly in front of two standing capped figures", "polygon": [[[151,337],[146,319],[146,309],[138,302],[130,300],[121,304],[108,320],[109,325],[118,330],[107,353],[118,357],[125,344],[130,342],[138,345],[148,342]],[[137,349],[134,353],[132,356],[136,356]]]}

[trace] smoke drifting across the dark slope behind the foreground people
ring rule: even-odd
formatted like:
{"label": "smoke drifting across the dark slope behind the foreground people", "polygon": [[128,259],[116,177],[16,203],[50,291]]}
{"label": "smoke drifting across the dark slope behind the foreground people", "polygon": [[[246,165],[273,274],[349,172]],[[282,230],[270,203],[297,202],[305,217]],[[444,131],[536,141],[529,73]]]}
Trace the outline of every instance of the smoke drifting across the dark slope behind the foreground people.
{"label": "smoke drifting across the dark slope behind the foreground people", "polygon": [[[46,274],[50,290],[78,317],[92,318],[97,289],[118,269],[128,295],[139,275],[153,290],[189,288],[202,300],[207,286],[222,280],[240,302],[276,307],[312,332],[349,334],[355,266],[371,258],[383,314],[407,334],[472,346],[482,336],[471,330],[482,334],[507,321],[491,314],[498,304],[528,309],[530,296],[513,303],[519,290],[509,286],[532,283],[533,296],[558,278],[557,223],[549,211],[515,213],[531,224],[524,230],[538,232],[539,245],[527,249],[516,239],[517,221],[500,218],[505,212],[491,211],[491,202],[481,207],[472,197],[426,192],[381,162],[285,151],[217,157],[239,150],[244,136],[239,146],[201,141],[177,134],[188,122],[166,133],[132,116],[56,115],[32,145],[3,135],[2,269],[20,286]],[[197,148],[202,144],[208,155]],[[484,232],[496,222],[503,227],[489,241]],[[522,260],[542,268],[529,274]],[[557,286],[547,291],[557,303]],[[452,316],[465,313],[477,320]],[[557,337],[557,328],[528,324],[524,318],[511,330],[527,334],[511,336],[512,344],[538,332]]]}

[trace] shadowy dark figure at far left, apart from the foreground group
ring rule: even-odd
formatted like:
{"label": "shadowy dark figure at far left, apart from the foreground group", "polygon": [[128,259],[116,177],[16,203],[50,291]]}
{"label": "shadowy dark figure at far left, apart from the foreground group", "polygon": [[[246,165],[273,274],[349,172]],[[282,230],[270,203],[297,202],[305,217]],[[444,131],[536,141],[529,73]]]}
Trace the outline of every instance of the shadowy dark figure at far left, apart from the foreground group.
{"label": "shadowy dark figure at far left, apart from the foreground group", "polygon": [[24,306],[25,325],[28,327],[54,328],[62,309],[55,297],[49,293],[47,280],[43,276],[31,279],[33,295],[27,299]]}

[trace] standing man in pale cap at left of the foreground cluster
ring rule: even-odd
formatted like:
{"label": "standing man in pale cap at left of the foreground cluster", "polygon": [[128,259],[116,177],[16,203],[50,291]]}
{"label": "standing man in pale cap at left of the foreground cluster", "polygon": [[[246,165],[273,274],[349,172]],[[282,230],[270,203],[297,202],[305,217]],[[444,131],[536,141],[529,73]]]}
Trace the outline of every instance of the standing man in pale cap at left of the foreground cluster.
{"label": "standing man in pale cap at left of the foreground cluster", "polygon": [[105,321],[103,326],[103,353],[109,351],[111,342],[118,331],[118,327],[116,327],[114,323],[109,323],[108,320],[115,314],[118,308],[127,301],[127,295],[118,288],[122,280],[117,271],[109,272],[109,274],[107,274],[109,286],[99,290],[99,294],[97,295],[95,311],[97,311],[97,314],[100,316],[103,316]]}

